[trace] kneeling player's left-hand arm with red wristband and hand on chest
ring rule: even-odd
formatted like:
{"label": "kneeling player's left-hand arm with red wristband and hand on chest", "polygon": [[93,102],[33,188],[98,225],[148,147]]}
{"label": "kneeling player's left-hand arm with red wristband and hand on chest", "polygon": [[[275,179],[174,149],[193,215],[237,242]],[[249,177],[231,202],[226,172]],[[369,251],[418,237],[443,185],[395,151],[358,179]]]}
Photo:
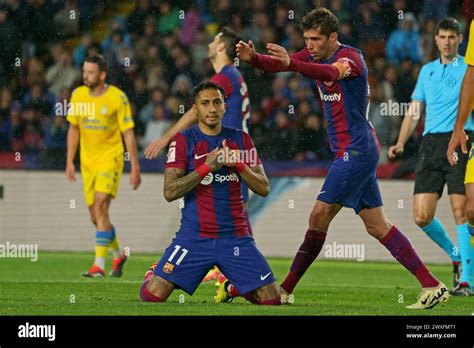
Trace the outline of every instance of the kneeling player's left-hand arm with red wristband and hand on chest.
{"label": "kneeling player's left-hand arm with red wristband and hand on chest", "polygon": [[[165,169],[165,184],[163,186],[163,195],[168,202],[172,202],[183,197],[186,193],[193,190],[201,180],[210,172],[216,171],[222,167],[218,157],[220,149],[215,148],[206,156],[206,162],[196,168],[191,173],[185,174],[185,169],[179,167],[168,167]],[[168,154],[168,163],[170,158]]]}

